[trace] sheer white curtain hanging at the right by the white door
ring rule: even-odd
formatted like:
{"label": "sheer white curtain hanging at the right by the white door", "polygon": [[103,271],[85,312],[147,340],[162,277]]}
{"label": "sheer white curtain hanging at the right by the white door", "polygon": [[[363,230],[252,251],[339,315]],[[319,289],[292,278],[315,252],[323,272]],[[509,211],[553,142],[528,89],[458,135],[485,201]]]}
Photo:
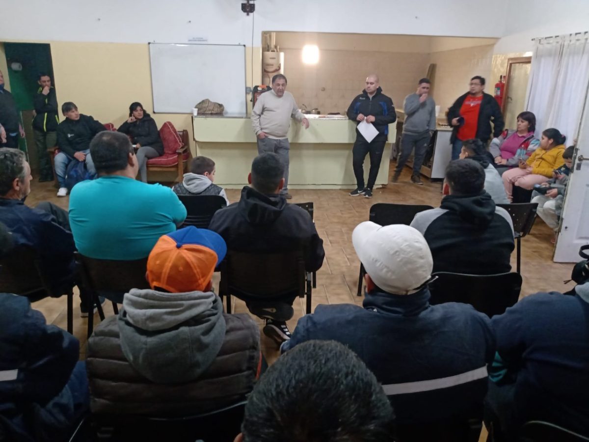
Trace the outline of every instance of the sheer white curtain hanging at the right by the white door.
{"label": "sheer white curtain hanging at the right by the white door", "polygon": [[561,35],[534,41],[526,110],[536,116],[536,134],[555,127],[577,138],[589,87],[589,40],[584,35]]}

